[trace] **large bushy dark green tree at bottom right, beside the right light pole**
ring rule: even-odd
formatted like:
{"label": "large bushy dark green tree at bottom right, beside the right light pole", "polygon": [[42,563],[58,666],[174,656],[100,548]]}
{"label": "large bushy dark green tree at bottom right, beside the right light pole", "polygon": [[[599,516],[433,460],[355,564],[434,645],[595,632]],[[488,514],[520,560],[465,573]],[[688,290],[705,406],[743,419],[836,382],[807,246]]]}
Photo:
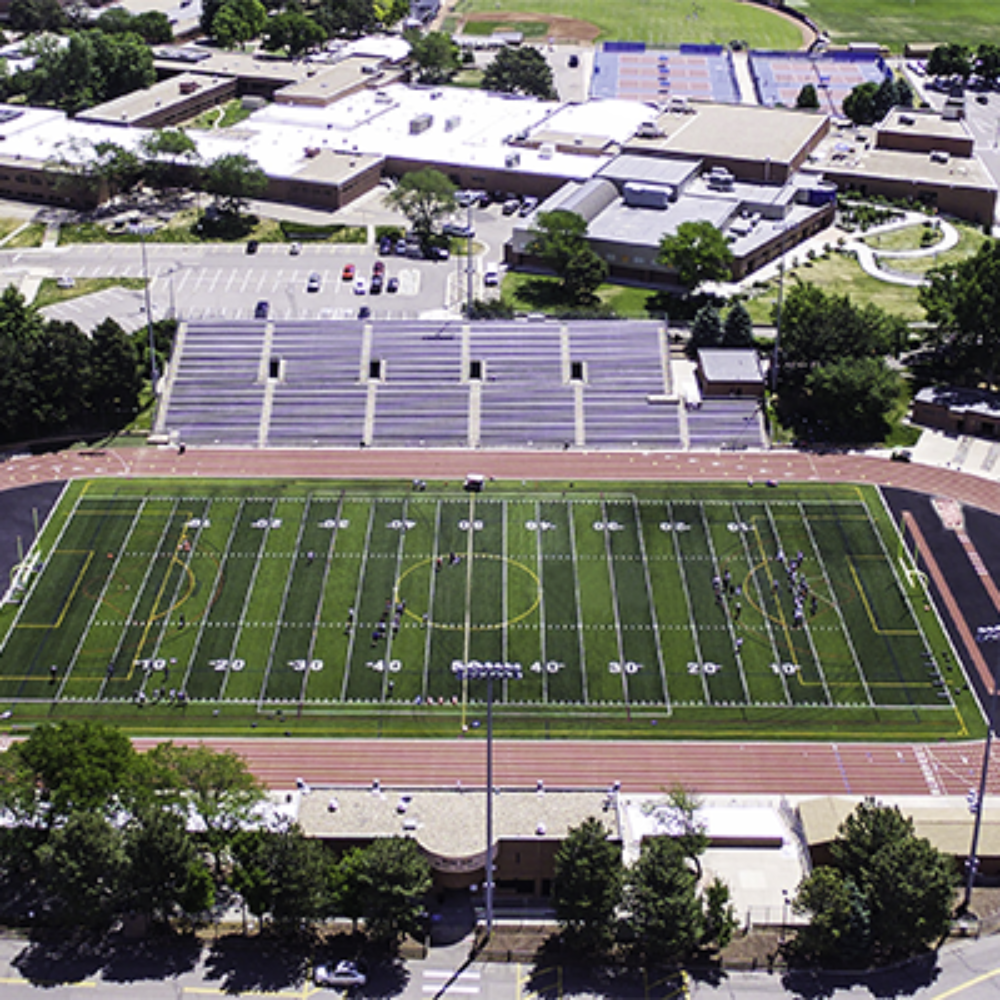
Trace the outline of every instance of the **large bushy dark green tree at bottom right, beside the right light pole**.
{"label": "large bushy dark green tree at bottom right, beside the right light pole", "polygon": [[954,864],[917,837],[897,807],[860,803],[841,824],[831,856],[796,894],[796,911],[811,922],[796,935],[793,953],[852,964],[896,961],[947,933]]}

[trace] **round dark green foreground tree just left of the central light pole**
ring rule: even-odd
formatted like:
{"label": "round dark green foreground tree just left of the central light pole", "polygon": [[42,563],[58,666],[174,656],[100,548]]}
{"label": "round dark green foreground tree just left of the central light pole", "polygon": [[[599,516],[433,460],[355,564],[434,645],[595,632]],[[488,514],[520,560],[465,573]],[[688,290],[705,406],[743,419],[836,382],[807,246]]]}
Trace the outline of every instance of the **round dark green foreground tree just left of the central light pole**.
{"label": "round dark green foreground tree just left of the central light pole", "polygon": [[417,934],[431,888],[427,859],[409,837],[379,837],[341,862],[338,896],[345,916],[364,916],[368,934],[396,944]]}

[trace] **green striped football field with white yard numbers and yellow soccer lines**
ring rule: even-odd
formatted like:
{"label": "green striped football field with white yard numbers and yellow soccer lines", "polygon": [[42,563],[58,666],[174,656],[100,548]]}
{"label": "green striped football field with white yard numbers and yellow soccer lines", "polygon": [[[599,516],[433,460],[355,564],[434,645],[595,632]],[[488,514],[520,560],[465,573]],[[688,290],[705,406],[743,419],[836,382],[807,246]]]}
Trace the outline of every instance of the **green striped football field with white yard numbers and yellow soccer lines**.
{"label": "green striped football field with white yard numbers and yellow soccer lines", "polygon": [[0,618],[23,722],[446,734],[485,697],[456,667],[505,663],[508,734],[979,730],[870,489],[93,481],[36,555]]}

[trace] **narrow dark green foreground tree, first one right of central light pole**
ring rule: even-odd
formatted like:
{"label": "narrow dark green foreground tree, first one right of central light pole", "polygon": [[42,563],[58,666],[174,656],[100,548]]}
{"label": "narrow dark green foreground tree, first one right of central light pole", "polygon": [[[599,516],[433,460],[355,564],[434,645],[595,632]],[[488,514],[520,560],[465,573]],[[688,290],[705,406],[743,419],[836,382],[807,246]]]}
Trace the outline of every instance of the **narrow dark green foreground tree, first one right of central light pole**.
{"label": "narrow dark green foreground tree, first one right of central light pole", "polygon": [[559,845],[552,904],[563,936],[581,951],[603,951],[614,939],[624,869],[621,847],[600,820],[586,819]]}

